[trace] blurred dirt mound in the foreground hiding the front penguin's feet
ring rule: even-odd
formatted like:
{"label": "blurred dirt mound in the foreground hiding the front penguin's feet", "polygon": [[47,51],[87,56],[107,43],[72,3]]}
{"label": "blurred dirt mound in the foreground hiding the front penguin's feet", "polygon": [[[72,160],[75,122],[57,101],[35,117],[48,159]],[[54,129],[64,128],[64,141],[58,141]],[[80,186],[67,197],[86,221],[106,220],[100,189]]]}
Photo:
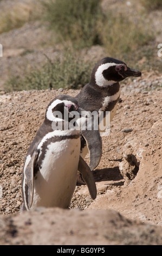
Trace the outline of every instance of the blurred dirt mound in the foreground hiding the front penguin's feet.
{"label": "blurred dirt mound in the foreground hiding the front penguin's feet", "polygon": [[160,245],[161,230],[113,210],[38,209],[0,220],[3,245]]}

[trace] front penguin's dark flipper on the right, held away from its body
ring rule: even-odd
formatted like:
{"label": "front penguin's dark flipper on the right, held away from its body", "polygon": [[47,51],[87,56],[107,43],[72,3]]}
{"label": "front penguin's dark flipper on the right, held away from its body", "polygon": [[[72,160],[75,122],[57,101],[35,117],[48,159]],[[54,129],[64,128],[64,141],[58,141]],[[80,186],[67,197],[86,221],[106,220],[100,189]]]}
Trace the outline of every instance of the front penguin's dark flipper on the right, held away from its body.
{"label": "front penguin's dark flipper on the right, held away from its body", "polygon": [[85,180],[85,182],[88,186],[90,196],[94,200],[96,198],[96,195],[97,195],[94,176],[93,176],[93,173],[91,172],[88,164],[85,162],[85,160],[82,159],[81,156],[80,156],[80,159],[79,159],[78,170],[82,174],[82,177],[83,177],[83,179]]}

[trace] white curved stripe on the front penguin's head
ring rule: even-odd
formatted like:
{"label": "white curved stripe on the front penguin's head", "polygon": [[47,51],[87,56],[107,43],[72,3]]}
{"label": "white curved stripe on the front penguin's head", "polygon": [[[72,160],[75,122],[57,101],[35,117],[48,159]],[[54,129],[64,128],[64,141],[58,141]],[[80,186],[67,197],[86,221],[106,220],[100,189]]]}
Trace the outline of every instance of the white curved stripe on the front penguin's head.
{"label": "white curved stripe on the front penguin's head", "polygon": [[[74,105],[74,103],[72,101],[69,101],[69,100],[59,100],[59,99],[57,99],[57,100],[53,101],[51,103],[51,105],[47,108],[46,117],[47,117],[48,120],[50,120],[50,121],[55,120],[56,121],[56,118],[54,117],[52,110],[57,104],[62,103],[62,102],[64,103],[65,106]],[[61,121],[62,119],[57,118],[57,121],[59,121],[59,120]]]}

